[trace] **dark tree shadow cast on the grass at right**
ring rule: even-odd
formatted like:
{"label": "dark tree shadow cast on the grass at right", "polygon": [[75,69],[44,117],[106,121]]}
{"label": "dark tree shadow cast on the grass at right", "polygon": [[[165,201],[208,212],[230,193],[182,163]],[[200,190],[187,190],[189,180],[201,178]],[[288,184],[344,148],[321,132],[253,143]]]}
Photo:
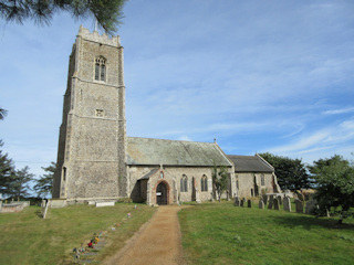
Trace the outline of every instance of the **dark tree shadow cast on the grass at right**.
{"label": "dark tree shadow cast on the grass at right", "polygon": [[302,226],[305,230],[311,230],[317,226],[322,226],[325,229],[337,229],[337,230],[354,230],[354,224],[343,223],[339,224],[337,220],[322,219],[322,218],[313,218],[304,214],[291,214],[283,216],[273,216],[274,222],[279,225],[283,225],[285,227],[296,227]]}

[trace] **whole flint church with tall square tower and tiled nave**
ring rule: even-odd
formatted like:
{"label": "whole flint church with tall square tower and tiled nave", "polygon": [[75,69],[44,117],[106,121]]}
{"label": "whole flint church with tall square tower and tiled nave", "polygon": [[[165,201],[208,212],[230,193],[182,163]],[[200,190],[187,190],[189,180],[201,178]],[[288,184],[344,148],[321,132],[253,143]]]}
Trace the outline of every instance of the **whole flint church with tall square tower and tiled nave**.
{"label": "whole flint church with tall square tower and tiled nave", "polygon": [[54,199],[202,202],[215,197],[215,167],[228,171],[228,197],[280,191],[273,167],[258,155],[227,156],[216,141],[127,137],[123,65],[119,36],[80,28],[69,60]]}

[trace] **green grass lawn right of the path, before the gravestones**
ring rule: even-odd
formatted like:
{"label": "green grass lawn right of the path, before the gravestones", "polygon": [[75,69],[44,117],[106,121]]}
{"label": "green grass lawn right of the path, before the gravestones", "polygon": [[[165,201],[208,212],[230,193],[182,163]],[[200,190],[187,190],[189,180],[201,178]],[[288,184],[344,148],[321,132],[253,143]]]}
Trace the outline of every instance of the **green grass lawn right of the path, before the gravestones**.
{"label": "green grass lawn right of the path, before the gravestones", "polygon": [[354,220],[230,202],[191,205],[179,212],[189,264],[354,264]]}

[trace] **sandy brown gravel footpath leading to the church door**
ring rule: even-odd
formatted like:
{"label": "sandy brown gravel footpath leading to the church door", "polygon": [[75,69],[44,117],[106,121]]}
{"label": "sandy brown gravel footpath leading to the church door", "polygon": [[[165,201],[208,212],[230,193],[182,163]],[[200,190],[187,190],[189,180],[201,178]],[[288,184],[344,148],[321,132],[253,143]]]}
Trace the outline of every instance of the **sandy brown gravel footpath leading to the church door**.
{"label": "sandy brown gravel footpath leading to the church door", "polygon": [[152,220],[104,264],[183,264],[179,210],[177,205],[159,206]]}

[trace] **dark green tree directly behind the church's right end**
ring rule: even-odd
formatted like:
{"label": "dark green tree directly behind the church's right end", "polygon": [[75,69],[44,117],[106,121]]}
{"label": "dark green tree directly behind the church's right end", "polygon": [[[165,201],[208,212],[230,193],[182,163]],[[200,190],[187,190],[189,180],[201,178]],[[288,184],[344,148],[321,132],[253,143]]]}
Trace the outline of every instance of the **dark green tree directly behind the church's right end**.
{"label": "dark green tree directly behind the church's right end", "polygon": [[280,157],[269,152],[260,153],[260,156],[273,166],[282,190],[299,192],[301,189],[312,187],[311,177],[301,159]]}

